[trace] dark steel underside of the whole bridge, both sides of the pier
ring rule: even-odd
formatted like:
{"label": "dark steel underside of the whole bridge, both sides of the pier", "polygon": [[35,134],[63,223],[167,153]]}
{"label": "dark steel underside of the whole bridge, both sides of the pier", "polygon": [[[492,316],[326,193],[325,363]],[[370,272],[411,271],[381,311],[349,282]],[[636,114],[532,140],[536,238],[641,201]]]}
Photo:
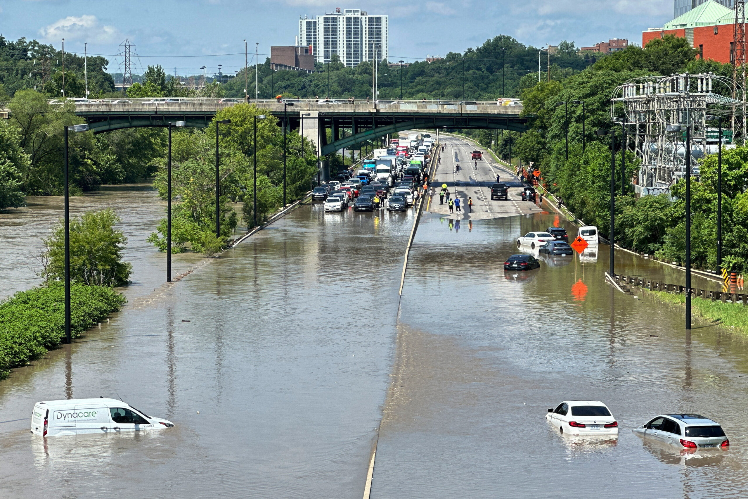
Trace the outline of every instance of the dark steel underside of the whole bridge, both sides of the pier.
{"label": "dark steel underside of the whole bridge, both sides of the pier", "polygon": [[[88,120],[94,133],[111,132],[124,128],[163,127],[175,121],[186,121],[187,126],[197,128],[208,126],[215,111],[175,112],[175,111],[110,111],[79,112]],[[283,112],[272,112],[278,120],[283,120]],[[409,129],[503,129],[513,132],[527,130],[527,119],[518,115],[501,115],[494,113],[403,113],[373,111],[367,113],[314,113],[304,118],[305,135],[310,132],[316,137],[309,137],[319,144],[319,153],[325,156],[336,150],[349,148],[364,141],[378,139],[387,134]],[[290,129],[298,129],[301,117],[297,113],[285,115]],[[312,121],[313,123],[310,123]],[[316,125],[316,126],[313,126]],[[327,129],[331,129],[331,141],[328,143]],[[345,133],[342,133],[346,130]],[[347,135],[346,135],[347,134]],[[343,136],[346,135],[346,136]]]}

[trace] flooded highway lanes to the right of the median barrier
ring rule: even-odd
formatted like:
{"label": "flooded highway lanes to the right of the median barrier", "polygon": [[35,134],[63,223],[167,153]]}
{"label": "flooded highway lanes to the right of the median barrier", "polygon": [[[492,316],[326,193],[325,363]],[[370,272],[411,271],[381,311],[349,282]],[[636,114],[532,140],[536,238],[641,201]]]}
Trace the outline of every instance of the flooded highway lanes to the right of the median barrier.
{"label": "flooded highway lanes to the right of the median barrier", "polygon": [[[423,216],[403,288],[372,497],[744,496],[744,335],[704,323],[687,334],[681,308],[614,291],[604,284],[607,245],[595,258],[539,255],[540,269],[504,272],[504,259],[518,253],[516,238],[554,221]],[[620,251],[616,268],[683,279]],[[605,402],[618,438],[560,435],[545,414],[568,399]],[[683,412],[721,423],[730,450],[679,452],[631,433],[657,414]]]}

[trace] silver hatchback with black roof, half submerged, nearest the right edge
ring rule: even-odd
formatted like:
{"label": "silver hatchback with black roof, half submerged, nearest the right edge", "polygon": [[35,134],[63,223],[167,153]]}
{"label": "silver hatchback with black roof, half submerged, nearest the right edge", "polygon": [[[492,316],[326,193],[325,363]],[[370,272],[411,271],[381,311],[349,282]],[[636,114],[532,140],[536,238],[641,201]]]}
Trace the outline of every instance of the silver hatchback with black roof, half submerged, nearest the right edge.
{"label": "silver hatchback with black roof, half submerged, nearest the right edge", "polygon": [[631,431],[679,449],[726,450],[730,446],[720,423],[699,414],[660,414]]}

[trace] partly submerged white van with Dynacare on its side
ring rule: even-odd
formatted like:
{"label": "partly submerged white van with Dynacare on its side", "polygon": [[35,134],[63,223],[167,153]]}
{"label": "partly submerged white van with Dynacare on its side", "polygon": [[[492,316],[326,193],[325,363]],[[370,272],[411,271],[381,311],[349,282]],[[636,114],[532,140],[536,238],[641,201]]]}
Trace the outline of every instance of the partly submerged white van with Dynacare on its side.
{"label": "partly submerged white van with Dynacare on its side", "polygon": [[40,437],[137,432],[172,426],[171,421],[151,417],[117,399],[48,400],[34,404],[31,413],[31,433]]}

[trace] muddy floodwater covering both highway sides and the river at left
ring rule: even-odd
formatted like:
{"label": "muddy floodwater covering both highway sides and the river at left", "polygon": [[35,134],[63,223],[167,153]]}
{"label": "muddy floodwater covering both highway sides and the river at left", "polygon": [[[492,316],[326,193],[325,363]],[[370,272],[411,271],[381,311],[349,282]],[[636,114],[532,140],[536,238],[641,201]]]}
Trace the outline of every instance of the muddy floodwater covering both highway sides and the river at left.
{"label": "muddy floodwater covering both highway sides and the river at left", "polygon": [[[471,148],[444,143],[437,180]],[[470,182],[497,168],[478,162],[452,181],[485,199]],[[373,498],[726,498],[748,488],[748,340],[708,323],[687,334],[680,308],[613,290],[606,245],[582,257],[533,253],[540,269],[503,271],[518,236],[556,224],[575,234],[562,217],[517,198],[481,200],[474,218],[432,207],[400,300],[412,210],[301,206],[219,258],[175,255],[175,274],[197,269],[166,286],[165,257],[144,241],[162,205],[147,186],[131,191],[74,198],[117,209],[135,284],[100,331],[0,382],[0,497],[361,498],[380,423]],[[36,284],[25,248],[58,217],[54,198],[34,203],[0,216],[13,259],[0,272],[13,290]],[[684,278],[622,251],[616,272]],[[99,396],[176,426],[28,432],[34,402]],[[605,402],[618,438],[560,435],[545,414],[566,399]],[[714,418],[730,450],[680,453],[631,433],[672,412]]]}

